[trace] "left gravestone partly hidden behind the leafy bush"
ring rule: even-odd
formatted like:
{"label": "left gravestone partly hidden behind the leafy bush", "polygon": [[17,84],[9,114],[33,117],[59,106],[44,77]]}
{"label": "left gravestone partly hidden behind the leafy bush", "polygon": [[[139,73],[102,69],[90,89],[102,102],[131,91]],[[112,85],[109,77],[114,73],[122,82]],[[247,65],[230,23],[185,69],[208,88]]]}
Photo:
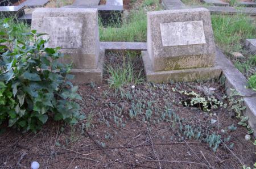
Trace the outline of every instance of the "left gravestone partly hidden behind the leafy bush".
{"label": "left gravestone partly hidden behind the leafy bush", "polygon": [[[32,13],[31,27],[48,34],[43,36],[49,38],[47,47],[61,47],[66,56],[63,62],[72,61],[73,67],[83,73],[99,73],[102,58],[97,9],[36,9]],[[94,81],[93,78],[88,80]]]}

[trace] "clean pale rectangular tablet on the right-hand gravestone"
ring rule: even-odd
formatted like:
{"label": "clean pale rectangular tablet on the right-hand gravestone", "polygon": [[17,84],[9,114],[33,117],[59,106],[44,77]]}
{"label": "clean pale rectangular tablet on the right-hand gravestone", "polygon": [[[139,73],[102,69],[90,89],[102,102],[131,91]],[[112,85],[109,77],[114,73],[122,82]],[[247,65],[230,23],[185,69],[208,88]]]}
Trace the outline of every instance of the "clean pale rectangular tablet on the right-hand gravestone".
{"label": "clean pale rectangular tablet on the right-hand gravestone", "polygon": [[205,44],[203,21],[160,23],[163,47]]}

